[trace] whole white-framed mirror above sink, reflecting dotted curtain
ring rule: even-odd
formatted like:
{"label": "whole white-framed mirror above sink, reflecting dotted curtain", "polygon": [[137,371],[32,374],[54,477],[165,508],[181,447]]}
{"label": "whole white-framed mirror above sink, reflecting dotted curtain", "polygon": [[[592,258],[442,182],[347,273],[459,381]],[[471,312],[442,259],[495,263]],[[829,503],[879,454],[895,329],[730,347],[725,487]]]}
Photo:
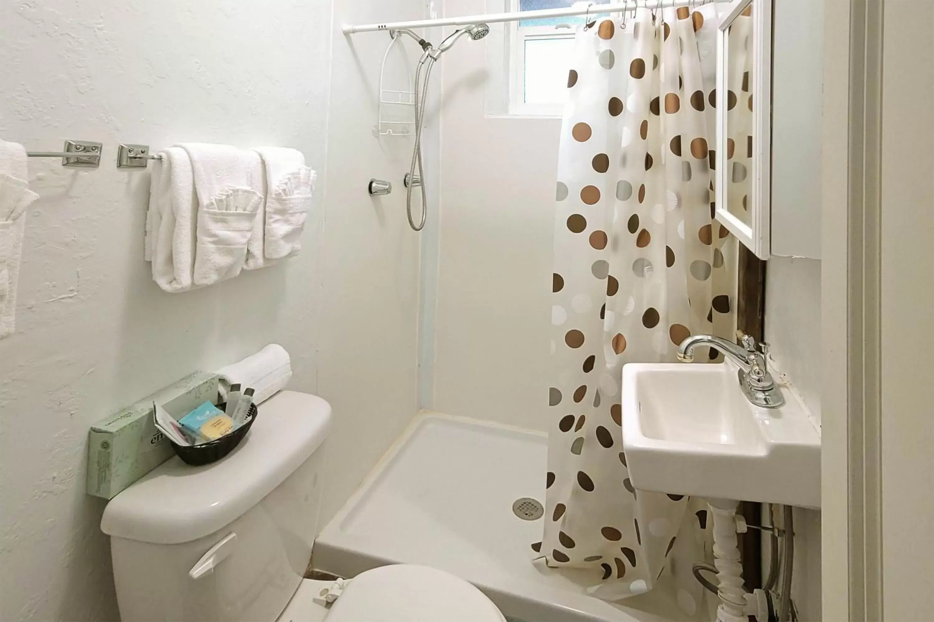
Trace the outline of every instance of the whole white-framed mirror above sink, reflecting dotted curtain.
{"label": "whole white-framed mirror above sink, reflecting dotted curtain", "polygon": [[771,251],[771,0],[736,0],[716,45],[716,219]]}

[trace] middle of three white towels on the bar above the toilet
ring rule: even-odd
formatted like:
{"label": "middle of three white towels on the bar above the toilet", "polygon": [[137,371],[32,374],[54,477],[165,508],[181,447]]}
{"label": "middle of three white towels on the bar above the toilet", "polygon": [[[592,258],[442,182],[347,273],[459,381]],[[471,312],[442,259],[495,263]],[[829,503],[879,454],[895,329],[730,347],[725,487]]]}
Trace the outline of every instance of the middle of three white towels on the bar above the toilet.
{"label": "middle of three white towels on the bar above the toilet", "polygon": [[230,145],[178,146],[191,158],[198,195],[194,284],[232,279],[244,268],[262,207],[261,159]]}

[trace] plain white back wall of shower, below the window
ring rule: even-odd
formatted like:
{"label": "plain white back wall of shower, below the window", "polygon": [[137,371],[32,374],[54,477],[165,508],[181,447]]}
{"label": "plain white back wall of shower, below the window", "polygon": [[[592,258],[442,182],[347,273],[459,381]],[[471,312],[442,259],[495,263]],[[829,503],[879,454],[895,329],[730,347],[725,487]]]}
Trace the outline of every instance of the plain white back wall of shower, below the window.
{"label": "plain white back wall of shower, below the window", "polygon": [[433,408],[545,430],[561,120],[485,117],[489,79],[482,43],[444,57]]}

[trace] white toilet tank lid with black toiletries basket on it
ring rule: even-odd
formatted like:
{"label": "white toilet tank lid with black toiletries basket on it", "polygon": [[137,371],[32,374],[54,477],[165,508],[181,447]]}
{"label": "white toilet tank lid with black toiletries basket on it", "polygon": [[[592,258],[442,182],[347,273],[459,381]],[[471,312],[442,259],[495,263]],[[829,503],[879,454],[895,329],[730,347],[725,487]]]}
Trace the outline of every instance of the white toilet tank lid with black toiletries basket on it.
{"label": "white toilet tank lid with black toiletries basket on it", "polygon": [[249,434],[226,458],[190,466],[173,456],[110,500],[101,530],[157,545],[216,532],[285,481],[318,449],[330,427],[331,405],[320,397],[276,394],[262,403]]}

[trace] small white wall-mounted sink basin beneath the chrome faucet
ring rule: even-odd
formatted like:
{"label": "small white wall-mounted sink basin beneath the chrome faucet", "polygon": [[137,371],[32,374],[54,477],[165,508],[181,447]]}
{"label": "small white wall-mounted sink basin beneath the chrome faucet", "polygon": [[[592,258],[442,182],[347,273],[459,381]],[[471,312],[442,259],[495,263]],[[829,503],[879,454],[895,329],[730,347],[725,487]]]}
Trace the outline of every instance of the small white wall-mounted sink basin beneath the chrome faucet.
{"label": "small white wall-mounted sink basin beneath the chrome faucet", "polygon": [[796,394],[759,408],[732,362],[623,366],[623,449],[633,487],[820,507],[820,432]]}

